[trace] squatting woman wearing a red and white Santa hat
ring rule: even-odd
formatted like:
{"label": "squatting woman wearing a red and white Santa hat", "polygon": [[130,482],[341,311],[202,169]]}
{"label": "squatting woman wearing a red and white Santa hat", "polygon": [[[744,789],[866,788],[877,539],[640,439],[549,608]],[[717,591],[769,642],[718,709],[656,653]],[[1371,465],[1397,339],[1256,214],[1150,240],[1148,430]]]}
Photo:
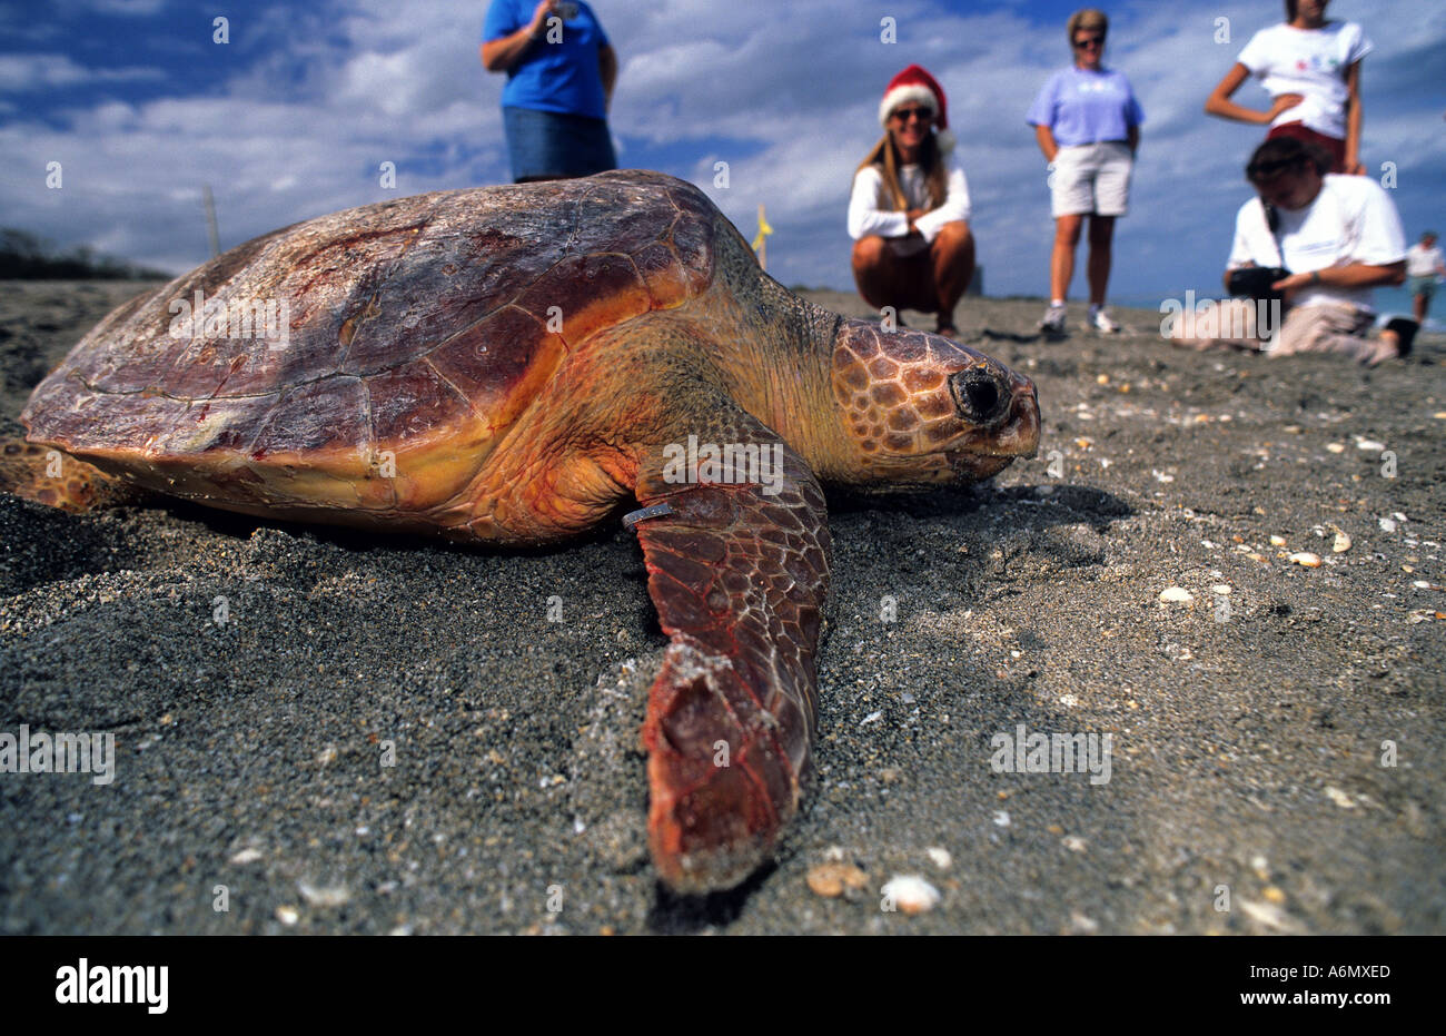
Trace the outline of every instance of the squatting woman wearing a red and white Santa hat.
{"label": "squatting woman wearing a red and white Santa hat", "polygon": [[954,305],[975,275],[975,239],[944,88],[910,65],[889,80],[879,122],[884,137],[849,198],[853,279],[873,308],[937,313],[936,333],[957,339]]}

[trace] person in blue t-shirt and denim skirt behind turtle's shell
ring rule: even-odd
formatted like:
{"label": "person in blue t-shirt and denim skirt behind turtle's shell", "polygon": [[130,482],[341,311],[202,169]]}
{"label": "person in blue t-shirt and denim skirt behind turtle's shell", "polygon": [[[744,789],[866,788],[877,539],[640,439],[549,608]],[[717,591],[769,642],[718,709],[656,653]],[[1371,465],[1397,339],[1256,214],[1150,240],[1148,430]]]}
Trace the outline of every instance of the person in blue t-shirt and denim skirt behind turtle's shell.
{"label": "person in blue t-shirt and denim skirt behind turtle's shell", "polygon": [[617,55],[583,0],[492,0],[482,65],[506,72],[502,122],[518,184],[616,169],[607,106]]}

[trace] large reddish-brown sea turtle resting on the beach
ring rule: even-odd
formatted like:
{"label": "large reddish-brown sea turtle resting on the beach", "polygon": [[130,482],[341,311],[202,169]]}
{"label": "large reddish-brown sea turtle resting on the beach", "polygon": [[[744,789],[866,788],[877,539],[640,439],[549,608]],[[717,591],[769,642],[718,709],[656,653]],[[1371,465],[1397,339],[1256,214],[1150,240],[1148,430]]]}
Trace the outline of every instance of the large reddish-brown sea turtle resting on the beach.
{"label": "large reddish-brown sea turtle resting on the beach", "polygon": [[671,638],[643,726],[649,842],[685,893],[748,877],[800,803],[820,480],[975,480],[1040,433],[1027,378],[811,305],[701,191],[638,171],[257,237],[106,317],[22,421],[12,489],[72,508],[123,479],[266,518],[549,544],[636,499],[623,522]]}

